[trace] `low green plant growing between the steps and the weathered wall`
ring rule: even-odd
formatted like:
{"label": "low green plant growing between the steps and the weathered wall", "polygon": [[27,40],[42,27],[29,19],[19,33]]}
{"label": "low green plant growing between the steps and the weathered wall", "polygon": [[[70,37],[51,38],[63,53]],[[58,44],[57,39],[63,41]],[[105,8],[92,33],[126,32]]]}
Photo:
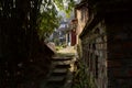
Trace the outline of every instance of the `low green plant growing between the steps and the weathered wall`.
{"label": "low green plant growing between the steps and the weathered wall", "polygon": [[81,61],[78,61],[77,66],[73,88],[96,88],[94,77],[88,73],[88,67]]}

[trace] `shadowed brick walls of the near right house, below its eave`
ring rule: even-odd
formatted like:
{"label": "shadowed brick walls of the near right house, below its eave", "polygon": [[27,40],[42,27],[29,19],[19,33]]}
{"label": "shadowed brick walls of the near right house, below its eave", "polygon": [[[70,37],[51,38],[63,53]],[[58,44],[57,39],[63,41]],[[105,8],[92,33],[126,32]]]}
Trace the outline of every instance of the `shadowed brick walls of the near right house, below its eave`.
{"label": "shadowed brick walls of the near right house, below its eave", "polygon": [[130,13],[114,12],[87,26],[81,37],[82,61],[98,88],[132,87],[131,23]]}

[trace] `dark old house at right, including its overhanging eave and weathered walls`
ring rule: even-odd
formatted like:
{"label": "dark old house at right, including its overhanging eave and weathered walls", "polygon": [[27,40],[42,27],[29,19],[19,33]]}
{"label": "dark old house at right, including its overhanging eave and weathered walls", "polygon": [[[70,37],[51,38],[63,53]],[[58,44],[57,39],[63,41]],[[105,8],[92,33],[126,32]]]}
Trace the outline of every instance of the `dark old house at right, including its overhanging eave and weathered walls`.
{"label": "dark old house at right, including its overhanging eave and weathered walls", "polygon": [[97,88],[132,87],[131,6],[131,0],[82,0],[77,6],[88,13],[85,28],[77,30],[81,31],[80,57]]}

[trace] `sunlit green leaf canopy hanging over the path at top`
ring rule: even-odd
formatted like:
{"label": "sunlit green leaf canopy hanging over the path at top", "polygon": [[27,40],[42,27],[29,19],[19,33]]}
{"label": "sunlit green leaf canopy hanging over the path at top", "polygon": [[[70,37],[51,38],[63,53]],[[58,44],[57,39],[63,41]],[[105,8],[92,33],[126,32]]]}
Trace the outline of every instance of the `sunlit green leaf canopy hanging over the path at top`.
{"label": "sunlit green leaf canopy hanging over the path at top", "polygon": [[38,35],[40,38],[46,38],[58,28],[59,20],[58,11],[63,10],[69,14],[75,4],[74,0],[43,0],[38,15]]}

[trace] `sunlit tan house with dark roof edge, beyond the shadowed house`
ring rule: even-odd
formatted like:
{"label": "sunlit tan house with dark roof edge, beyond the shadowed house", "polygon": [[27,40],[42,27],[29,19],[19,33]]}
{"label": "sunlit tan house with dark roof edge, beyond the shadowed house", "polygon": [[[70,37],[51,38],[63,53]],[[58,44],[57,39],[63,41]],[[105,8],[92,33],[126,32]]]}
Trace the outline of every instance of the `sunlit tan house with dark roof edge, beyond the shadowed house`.
{"label": "sunlit tan house with dark roof edge, beyond the shadowed house", "polygon": [[81,56],[81,42],[79,38],[80,33],[82,32],[88,19],[88,3],[86,1],[81,1],[80,3],[76,4],[75,7],[75,19],[74,24],[76,25],[76,45],[79,51],[79,56]]}

